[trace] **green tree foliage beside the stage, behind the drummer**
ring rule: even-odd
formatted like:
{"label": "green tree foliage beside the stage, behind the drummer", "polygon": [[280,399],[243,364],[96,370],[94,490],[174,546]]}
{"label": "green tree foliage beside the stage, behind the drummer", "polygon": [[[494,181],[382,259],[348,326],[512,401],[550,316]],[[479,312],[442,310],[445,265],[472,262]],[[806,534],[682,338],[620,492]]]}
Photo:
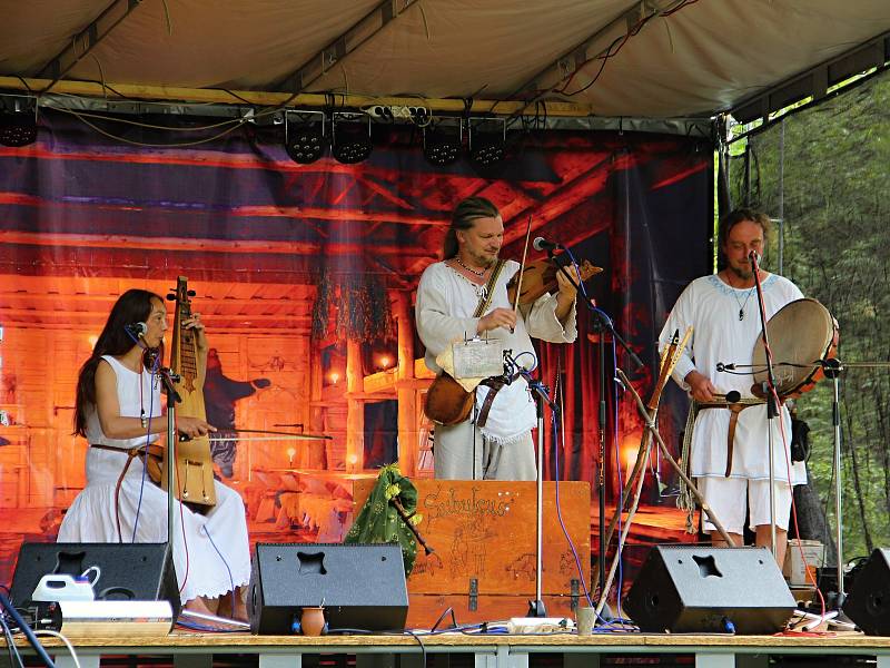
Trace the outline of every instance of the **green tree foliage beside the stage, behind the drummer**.
{"label": "green tree foliage beside the stage, behind the drummer", "polygon": [[[783,217],[767,268],[779,272],[781,236],[781,273],[837,318],[838,357],[844,364],[890,360],[890,75],[746,141],[748,157],[732,159],[733,204]],[[834,525],[832,397],[832,383],[823,380],[798,401],[798,413],[812,430],[811,481]],[[841,524],[850,560],[890,546],[890,369],[847,366],[840,400]]]}

